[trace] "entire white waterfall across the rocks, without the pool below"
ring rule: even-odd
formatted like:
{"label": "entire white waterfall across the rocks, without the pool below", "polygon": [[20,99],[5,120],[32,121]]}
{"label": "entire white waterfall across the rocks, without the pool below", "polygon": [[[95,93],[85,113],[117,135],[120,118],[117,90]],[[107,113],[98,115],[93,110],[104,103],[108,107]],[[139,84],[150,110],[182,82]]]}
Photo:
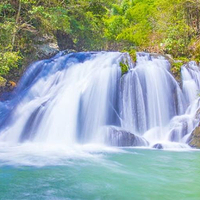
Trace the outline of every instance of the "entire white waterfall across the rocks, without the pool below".
{"label": "entire white waterfall across the rocks, without the pool below", "polygon": [[[122,76],[121,62],[129,66]],[[188,147],[198,124],[200,73],[182,67],[182,87],[164,57],[62,52],[31,65],[0,102],[0,141]]]}

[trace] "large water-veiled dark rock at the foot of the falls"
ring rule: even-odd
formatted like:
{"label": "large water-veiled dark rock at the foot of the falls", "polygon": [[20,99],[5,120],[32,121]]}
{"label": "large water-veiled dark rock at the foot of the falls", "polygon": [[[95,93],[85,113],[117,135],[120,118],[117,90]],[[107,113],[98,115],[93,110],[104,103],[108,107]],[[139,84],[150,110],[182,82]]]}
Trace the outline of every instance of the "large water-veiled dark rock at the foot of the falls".
{"label": "large water-veiled dark rock at the foot of the falls", "polygon": [[148,146],[149,144],[144,138],[117,127],[107,128],[105,142],[118,147]]}

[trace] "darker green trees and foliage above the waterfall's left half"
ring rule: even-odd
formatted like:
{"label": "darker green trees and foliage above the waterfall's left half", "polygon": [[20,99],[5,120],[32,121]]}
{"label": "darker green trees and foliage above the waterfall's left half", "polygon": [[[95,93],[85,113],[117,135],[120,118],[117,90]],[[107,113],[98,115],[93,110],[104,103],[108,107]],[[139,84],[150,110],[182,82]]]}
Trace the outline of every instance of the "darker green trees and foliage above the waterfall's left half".
{"label": "darker green trees and foliage above the waterfall's left half", "polygon": [[0,75],[24,63],[34,52],[37,38],[56,41],[57,32],[76,50],[102,49],[104,17],[111,4],[105,0],[4,0],[0,2]]}

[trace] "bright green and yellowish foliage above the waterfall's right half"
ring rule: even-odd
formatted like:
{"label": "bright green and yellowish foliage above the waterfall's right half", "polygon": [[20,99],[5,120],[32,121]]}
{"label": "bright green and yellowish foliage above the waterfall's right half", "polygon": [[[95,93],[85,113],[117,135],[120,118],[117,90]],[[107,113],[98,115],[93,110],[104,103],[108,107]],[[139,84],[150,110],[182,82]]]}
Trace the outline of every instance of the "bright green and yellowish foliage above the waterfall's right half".
{"label": "bright green and yellowish foliage above the waterfall's right half", "polygon": [[121,49],[133,46],[174,57],[200,55],[196,43],[191,43],[200,36],[198,1],[122,0],[113,5],[105,25],[105,36],[110,43],[120,43]]}

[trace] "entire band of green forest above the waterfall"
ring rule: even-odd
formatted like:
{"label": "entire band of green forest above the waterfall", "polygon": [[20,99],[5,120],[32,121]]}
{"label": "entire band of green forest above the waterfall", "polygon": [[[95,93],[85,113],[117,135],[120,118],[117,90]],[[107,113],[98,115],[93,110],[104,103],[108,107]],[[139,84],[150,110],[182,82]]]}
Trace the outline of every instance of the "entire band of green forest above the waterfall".
{"label": "entire band of green forest above the waterfall", "polygon": [[3,0],[0,76],[34,59],[40,38],[60,50],[147,51],[199,60],[200,1]]}

